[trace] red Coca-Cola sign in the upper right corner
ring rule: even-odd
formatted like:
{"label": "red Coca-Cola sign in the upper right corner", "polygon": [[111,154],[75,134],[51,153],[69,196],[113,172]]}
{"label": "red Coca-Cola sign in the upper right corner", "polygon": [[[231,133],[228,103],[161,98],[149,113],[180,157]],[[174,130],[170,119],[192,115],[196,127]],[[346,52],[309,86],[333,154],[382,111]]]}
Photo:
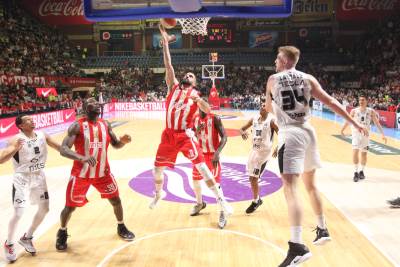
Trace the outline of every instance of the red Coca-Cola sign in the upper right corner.
{"label": "red Coca-Cola sign in the upper right corner", "polygon": [[338,20],[378,20],[399,14],[400,0],[339,0]]}

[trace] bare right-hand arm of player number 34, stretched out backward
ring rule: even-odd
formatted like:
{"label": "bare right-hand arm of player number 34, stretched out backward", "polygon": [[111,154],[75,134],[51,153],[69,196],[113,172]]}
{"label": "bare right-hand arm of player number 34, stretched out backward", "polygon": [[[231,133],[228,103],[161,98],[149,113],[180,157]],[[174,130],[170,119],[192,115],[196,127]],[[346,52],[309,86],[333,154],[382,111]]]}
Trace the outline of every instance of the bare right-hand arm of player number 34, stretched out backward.
{"label": "bare right-hand arm of player number 34, stretched out backward", "polygon": [[335,98],[328,95],[324,89],[322,89],[321,85],[312,75],[308,75],[309,82],[311,84],[311,95],[317,99],[319,99],[322,103],[327,105],[333,112],[342,116],[346,121],[351,123],[357,130],[362,132],[364,135],[366,134],[366,129],[362,127],[358,122],[356,122],[350,114],[346,111],[346,109],[337,101]]}

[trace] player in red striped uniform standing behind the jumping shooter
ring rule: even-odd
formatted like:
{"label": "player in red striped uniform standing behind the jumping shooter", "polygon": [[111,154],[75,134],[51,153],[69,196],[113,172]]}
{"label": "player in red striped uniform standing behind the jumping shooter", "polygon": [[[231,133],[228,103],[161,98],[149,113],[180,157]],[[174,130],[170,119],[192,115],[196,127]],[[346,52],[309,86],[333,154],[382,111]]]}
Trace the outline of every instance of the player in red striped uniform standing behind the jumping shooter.
{"label": "player in red striped uniform standing behind the jumping shooter", "polygon": [[[206,100],[205,100],[206,101]],[[217,185],[221,183],[221,164],[219,155],[224,148],[228,138],[221,118],[212,113],[199,111],[199,115],[194,118],[194,129],[199,140],[200,148],[203,151],[204,158],[208,168],[214,175]],[[196,195],[197,204],[193,207],[191,216],[196,216],[206,207],[201,193],[200,181],[203,179],[199,171],[193,166],[193,187]],[[227,223],[224,211],[220,211],[218,226],[224,228]]]}

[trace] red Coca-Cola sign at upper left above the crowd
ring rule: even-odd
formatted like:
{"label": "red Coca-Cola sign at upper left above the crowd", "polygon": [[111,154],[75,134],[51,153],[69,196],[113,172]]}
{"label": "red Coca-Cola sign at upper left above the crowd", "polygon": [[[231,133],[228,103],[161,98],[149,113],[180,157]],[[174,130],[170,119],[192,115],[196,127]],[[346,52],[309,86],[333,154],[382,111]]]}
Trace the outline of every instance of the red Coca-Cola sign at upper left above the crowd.
{"label": "red Coca-Cola sign at upper left above the crowd", "polygon": [[50,25],[91,24],[83,13],[83,0],[23,0],[23,6]]}

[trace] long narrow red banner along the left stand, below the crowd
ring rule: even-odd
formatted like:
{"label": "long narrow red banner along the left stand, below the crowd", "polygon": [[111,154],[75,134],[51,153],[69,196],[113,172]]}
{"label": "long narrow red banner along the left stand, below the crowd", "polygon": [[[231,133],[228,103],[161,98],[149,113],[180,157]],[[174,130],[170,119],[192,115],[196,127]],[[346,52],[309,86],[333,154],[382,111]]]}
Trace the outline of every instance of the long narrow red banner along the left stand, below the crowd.
{"label": "long narrow red banner along the left stand, below the crowd", "polygon": [[72,87],[95,86],[96,79],[81,77],[57,77],[57,76],[25,76],[25,75],[0,75],[0,84],[4,85],[41,85],[54,86],[57,82]]}

